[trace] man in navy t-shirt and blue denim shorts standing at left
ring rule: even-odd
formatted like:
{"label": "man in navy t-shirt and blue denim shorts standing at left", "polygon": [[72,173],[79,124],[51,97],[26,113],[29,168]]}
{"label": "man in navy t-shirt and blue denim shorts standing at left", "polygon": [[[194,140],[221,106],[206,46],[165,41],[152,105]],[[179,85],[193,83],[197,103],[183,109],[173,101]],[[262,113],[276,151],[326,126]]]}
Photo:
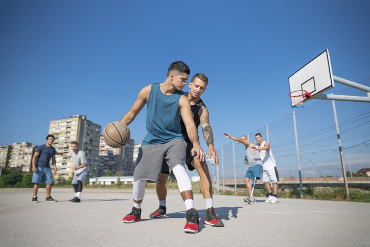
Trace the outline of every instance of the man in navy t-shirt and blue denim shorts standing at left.
{"label": "man in navy t-shirt and blue denim shorts standing at left", "polygon": [[32,158],[32,183],[33,185],[33,198],[32,203],[38,203],[37,200],[37,190],[40,182],[42,181],[42,184],[47,185],[47,198],[45,201],[49,202],[55,202],[57,200],[54,200],[50,196],[50,192],[52,190],[52,184],[53,184],[53,178],[52,178],[52,169],[50,168],[50,160],[53,159],[53,165],[54,165],[54,172],[57,173],[57,164],[55,162],[55,148],[52,147],[52,144],[54,143],[54,136],[52,134],[48,134],[47,136],[47,144],[40,145],[33,155]]}

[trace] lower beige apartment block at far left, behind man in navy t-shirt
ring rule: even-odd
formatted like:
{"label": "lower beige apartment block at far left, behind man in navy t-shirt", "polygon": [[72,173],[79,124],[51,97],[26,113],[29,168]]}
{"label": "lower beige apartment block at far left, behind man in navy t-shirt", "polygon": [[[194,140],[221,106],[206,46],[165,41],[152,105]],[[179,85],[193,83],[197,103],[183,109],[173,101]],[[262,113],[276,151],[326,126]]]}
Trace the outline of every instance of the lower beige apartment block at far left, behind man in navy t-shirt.
{"label": "lower beige apartment block at far left, behind man in navy t-shirt", "polygon": [[[29,143],[29,142],[22,142],[22,143],[13,143],[13,145],[5,145],[2,147],[5,147],[2,149],[4,151],[8,147],[8,165],[6,167],[13,167],[15,169],[21,169],[22,172],[32,172],[32,157],[35,153],[38,146]],[[5,168],[5,167],[4,167]]]}

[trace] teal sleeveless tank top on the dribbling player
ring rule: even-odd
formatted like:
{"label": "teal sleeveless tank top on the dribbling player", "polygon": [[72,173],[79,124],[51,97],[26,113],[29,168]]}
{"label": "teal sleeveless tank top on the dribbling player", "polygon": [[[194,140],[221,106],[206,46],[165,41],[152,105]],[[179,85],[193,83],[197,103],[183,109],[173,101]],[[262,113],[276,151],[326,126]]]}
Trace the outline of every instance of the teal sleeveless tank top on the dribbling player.
{"label": "teal sleeveless tank top on the dribbling player", "polygon": [[183,139],[181,134],[178,102],[182,91],[165,95],[159,84],[152,84],[147,101],[147,135],[142,145],[162,144],[174,139]]}

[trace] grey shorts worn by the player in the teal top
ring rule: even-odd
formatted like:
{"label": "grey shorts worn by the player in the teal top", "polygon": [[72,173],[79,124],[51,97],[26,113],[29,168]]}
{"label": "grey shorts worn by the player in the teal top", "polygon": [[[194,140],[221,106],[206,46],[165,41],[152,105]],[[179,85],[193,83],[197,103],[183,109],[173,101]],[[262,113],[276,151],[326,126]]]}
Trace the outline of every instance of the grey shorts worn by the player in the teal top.
{"label": "grey shorts worn by the player in the teal top", "polygon": [[182,139],[175,139],[163,144],[142,145],[137,155],[133,178],[157,183],[163,159],[165,159],[171,178],[176,180],[172,168],[176,165],[185,167],[186,149],[187,143]]}

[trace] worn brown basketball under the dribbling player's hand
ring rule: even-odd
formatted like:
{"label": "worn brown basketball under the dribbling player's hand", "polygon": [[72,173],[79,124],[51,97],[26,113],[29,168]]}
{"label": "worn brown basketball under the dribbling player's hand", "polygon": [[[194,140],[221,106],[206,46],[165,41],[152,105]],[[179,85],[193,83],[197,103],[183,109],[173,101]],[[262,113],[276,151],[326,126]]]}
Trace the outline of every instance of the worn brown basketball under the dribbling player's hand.
{"label": "worn brown basketball under the dribbling player's hand", "polygon": [[130,140],[130,129],[122,122],[111,122],[103,130],[103,139],[109,147],[121,148]]}

